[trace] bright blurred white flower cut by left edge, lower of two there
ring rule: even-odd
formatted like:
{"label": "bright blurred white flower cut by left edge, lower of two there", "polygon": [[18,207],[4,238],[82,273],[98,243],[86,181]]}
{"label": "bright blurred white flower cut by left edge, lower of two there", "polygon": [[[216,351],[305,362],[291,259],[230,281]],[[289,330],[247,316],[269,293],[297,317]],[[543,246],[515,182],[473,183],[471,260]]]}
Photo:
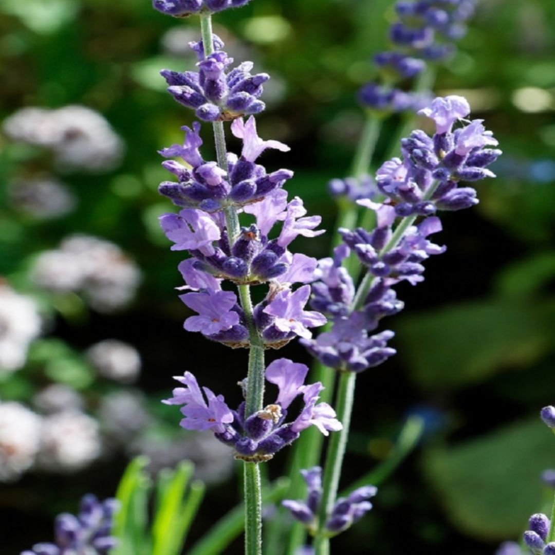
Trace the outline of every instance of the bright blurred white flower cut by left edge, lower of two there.
{"label": "bright blurred white flower cut by left edge, lower of two there", "polygon": [[16,402],[0,403],[0,481],[15,480],[33,464],[41,417]]}

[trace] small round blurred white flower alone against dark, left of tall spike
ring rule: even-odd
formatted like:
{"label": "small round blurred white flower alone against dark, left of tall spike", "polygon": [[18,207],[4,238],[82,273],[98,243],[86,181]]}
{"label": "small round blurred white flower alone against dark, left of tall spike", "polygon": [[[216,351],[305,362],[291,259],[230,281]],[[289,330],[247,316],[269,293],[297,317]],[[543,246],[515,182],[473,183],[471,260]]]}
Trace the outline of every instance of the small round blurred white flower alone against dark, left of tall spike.
{"label": "small round blurred white flower alone against dark, left of tall spike", "polygon": [[87,349],[87,358],[101,376],[122,384],[131,384],[139,376],[137,349],[117,339],[100,341]]}

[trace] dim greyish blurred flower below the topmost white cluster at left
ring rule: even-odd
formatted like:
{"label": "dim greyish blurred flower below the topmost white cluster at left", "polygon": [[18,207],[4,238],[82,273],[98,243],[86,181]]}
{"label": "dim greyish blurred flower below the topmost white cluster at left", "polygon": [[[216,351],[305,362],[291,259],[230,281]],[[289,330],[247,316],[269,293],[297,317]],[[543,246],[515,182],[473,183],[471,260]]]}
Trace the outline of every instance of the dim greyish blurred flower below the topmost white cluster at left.
{"label": "dim greyish blurred flower below the topmost white cluster at left", "polygon": [[77,204],[67,186],[51,176],[17,179],[10,183],[8,192],[12,206],[35,218],[59,218]]}

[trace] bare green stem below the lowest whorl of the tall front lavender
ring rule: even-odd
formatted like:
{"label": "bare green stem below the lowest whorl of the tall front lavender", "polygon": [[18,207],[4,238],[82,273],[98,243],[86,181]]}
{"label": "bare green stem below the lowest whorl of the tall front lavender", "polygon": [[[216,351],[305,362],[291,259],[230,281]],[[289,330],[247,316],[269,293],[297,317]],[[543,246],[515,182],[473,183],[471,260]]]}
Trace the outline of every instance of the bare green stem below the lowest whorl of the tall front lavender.
{"label": "bare green stem below the lowest whorl of the tall front lavender", "polygon": [[245,555],[262,555],[262,488],[256,462],[244,463]]}

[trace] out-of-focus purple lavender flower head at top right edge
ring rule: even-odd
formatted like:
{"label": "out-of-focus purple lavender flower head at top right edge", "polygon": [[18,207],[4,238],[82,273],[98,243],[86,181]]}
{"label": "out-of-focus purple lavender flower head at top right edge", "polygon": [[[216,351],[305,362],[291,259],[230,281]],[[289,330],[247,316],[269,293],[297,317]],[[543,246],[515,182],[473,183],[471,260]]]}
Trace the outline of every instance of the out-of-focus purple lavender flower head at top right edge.
{"label": "out-of-focus purple lavender flower head at top right edge", "polygon": [[[466,34],[465,22],[472,16],[475,0],[400,0],[399,18],[390,27],[393,49],[374,58],[386,83],[412,79],[426,67],[454,51],[453,41]],[[359,93],[366,108],[379,112],[416,111],[430,100],[428,93],[407,93],[391,85],[367,83]]]}

